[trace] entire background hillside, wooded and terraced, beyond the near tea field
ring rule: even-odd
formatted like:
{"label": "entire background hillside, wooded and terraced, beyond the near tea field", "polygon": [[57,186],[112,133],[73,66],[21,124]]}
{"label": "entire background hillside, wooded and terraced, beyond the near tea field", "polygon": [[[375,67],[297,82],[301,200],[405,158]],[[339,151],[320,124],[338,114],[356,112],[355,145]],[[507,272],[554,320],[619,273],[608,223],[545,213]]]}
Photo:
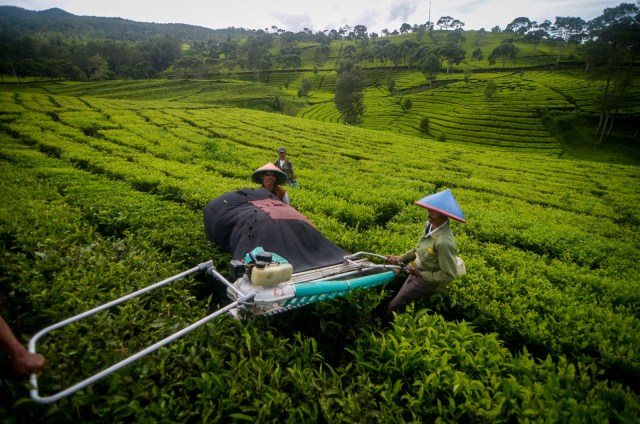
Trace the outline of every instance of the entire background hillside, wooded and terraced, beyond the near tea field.
{"label": "entire background hillside, wooded and terraced, beyond the near tea field", "polygon": [[[355,30],[209,30],[4,6],[0,78],[9,84],[118,81],[104,95],[188,99],[338,123],[336,68],[349,59],[366,79],[358,119],[363,128],[553,157],[623,156],[625,163],[637,163],[635,45],[613,48],[598,41],[620,30],[634,38],[636,27],[628,20],[637,18],[637,8],[618,9],[585,26],[577,42],[567,35],[575,28],[561,23],[532,23],[528,32],[416,27],[379,37]],[[506,54],[496,53],[505,48]],[[431,56],[439,65],[427,71]],[[153,88],[166,87],[167,79],[174,81],[167,86],[179,90],[163,94],[164,88]],[[487,97],[489,85],[495,95]],[[309,88],[304,93],[303,86]],[[52,87],[52,93],[83,91],[81,85]],[[604,126],[606,136],[596,131]],[[605,153],[604,145],[614,154]]]}

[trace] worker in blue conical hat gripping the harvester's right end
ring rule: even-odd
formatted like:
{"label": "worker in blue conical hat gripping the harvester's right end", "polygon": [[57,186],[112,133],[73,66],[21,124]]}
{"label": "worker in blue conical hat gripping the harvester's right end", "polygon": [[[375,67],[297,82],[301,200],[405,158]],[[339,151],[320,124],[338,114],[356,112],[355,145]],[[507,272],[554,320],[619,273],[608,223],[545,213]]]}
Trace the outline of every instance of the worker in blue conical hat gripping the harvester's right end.
{"label": "worker in blue conical hat gripping the harvester's right end", "polygon": [[428,298],[441,286],[458,276],[456,242],[449,226],[449,219],[466,222],[451,190],[444,190],[424,197],[414,203],[426,208],[429,220],[416,246],[399,256],[388,256],[392,264],[410,263],[404,284],[387,304],[385,319],[391,321],[393,313],[417,299]]}

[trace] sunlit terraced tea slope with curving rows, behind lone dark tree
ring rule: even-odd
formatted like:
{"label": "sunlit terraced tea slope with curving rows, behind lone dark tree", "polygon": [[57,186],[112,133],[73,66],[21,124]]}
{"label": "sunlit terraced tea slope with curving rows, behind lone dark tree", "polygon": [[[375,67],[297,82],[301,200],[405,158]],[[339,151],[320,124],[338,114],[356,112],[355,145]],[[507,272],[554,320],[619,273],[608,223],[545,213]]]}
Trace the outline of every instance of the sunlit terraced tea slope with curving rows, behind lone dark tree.
{"label": "sunlit terraced tea slope with curving rows, behind lone dark tree", "polygon": [[[593,100],[605,84],[576,72],[526,71],[477,73],[466,81],[458,74],[431,88],[418,72],[395,72],[388,77],[397,87],[391,94],[381,74],[368,74],[374,84],[365,92],[365,128],[553,156],[562,152],[562,146],[543,125],[542,114],[552,110],[595,112]],[[497,86],[491,99],[485,96],[488,81]],[[631,96],[639,97],[637,90]],[[340,122],[332,98],[314,94],[310,102],[316,98],[318,102],[298,116]],[[410,99],[408,109],[403,106],[406,99]],[[638,113],[639,105],[631,103],[621,112]],[[420,129],[423,118],[430,123],[426,134]]]}

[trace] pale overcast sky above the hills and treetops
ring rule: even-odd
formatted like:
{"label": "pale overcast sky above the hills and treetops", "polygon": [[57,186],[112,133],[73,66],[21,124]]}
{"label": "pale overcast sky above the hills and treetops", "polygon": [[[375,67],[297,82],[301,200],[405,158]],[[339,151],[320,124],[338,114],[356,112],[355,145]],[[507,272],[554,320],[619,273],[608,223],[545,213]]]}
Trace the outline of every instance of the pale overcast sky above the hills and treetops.
{"label": "pale overcast sky above the hills and treetops", "polygon": [[525,16],[553,22],[556,16],[589,21],[608,7],[636,0],[0,0],[1,5],[29,10],[58,7],[74,15],[105,16],[140,22],[185,23],[212,29],[243,27],[298,32],[365,25],[369,33],[393,31],[403,23],[437,22],[450,16],[465,23],[463,29],[504,29]]}

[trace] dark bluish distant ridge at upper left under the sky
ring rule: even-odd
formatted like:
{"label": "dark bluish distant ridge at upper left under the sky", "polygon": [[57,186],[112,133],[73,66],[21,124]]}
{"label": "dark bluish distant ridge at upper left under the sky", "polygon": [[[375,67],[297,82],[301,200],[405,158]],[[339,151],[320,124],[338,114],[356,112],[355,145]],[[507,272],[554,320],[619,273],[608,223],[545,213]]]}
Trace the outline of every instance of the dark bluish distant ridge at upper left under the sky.
{"label": "dark bluish distant ridge at upper left under the sky", "polygon": [[244,28],[210,29],[187,24],[156,24],[122,18],[77,16],[59,8],[32,11],[16,6],[0,6],[0,33],[5,36],[64,34],[81,39],[141,41],[154,37],[175,37],[187,42],[224,40],[229,33],[247,36]]}

